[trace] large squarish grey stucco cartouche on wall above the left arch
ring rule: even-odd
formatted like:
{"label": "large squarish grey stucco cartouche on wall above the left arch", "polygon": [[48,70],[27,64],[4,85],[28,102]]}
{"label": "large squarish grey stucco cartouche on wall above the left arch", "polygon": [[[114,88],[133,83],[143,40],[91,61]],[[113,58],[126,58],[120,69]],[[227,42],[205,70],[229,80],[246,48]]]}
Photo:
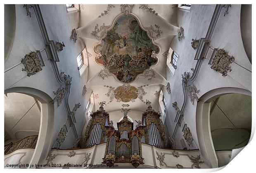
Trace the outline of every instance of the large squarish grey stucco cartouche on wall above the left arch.
{"label": "large squarish grey stucco cartouche on wall above the left arch", "polygon": [[28,77],[43,70],[40,59],[35,51],[31,52],[30,54],[26,54],[25,58],[21,58],[21,63],[24,65],[22,71],[26,71]]}

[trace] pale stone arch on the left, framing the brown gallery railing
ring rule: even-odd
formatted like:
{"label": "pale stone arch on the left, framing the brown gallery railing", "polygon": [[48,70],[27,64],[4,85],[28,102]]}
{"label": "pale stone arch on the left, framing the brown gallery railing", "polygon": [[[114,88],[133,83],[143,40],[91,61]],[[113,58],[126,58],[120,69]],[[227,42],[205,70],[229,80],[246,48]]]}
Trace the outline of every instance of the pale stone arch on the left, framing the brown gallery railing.
{"label": "pale stone arch on the left, framing the brown gallery railing", "polygon": [[39,161],[46,159],[52,147],[52,129],[54,126],[54,105],[50,103],[52,98],[45,92],[30,87],[13,87],[5,90],[5,94],[7,93],[26,94],[36,98],[42,104],[38,140],[30,161],[30,164],[38,164]]}

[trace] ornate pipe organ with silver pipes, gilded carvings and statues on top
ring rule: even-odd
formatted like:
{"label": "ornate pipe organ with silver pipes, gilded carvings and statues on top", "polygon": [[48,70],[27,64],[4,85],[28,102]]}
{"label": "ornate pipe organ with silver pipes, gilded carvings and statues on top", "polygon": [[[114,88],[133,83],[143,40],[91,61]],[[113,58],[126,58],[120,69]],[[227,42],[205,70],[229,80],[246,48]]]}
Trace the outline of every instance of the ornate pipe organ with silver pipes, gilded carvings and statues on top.
{"label": "ornate pipe organ with silver pipes, gilded carvings and statues on top", "polygon": [[[117,130],[113,122],[109,123],[109,114],[105,112],[103,103],[91,119],[85,131],[85,147],[99,143],[107,143],[104,164],[111,167],[115,163],[131,163],[135,168],[143,163],[141,143],[165,147],[165,130],[161,115],[154,111],[151,103],[147,101],[148,108],[142,114],[136,128],[127,117],[130,109],[123,109],[123,119],[117,122]],[[136,121],[137,122],[137,121]]]}

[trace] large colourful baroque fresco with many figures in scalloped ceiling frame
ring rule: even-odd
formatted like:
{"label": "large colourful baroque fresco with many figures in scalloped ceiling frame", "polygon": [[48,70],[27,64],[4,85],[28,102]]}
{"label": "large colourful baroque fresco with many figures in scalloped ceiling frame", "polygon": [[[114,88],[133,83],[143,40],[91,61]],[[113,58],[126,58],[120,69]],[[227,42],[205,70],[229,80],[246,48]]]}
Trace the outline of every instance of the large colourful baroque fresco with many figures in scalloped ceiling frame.
{"label": "large colourful baroque fresco with many figures in scalloped ceiling frame", "polygon": [[97,63],[104,65],[120,82],[129,83],[157,63],[152,51],[159,53],[159,47],[153,44],[140,22],[129,14],[116,19],[94,51],[101,52],[101,56],[95,57]]}

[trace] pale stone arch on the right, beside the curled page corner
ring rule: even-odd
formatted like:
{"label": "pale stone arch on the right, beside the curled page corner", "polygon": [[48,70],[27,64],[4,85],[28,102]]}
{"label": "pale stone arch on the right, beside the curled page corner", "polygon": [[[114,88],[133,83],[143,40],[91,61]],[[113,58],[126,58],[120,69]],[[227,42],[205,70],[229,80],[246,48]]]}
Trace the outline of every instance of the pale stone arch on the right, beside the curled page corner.
{"label": "pale stone arch on the right, beside the curled page corner", "polygon": [[[196,110],[196,130],[198,138],[198,146],[205,164],[212,168],[218,168],[218,158],[213,146],[211,138],[211,128],[209,120],[209,107],[213,99],[230,93],[244,94],[251,96],[251,91],[233,87],[223,87],[208,91],[199,98]],[[251,138],[253,135],[251,135]],[[250,140],[251,140],[250,138]]]}

